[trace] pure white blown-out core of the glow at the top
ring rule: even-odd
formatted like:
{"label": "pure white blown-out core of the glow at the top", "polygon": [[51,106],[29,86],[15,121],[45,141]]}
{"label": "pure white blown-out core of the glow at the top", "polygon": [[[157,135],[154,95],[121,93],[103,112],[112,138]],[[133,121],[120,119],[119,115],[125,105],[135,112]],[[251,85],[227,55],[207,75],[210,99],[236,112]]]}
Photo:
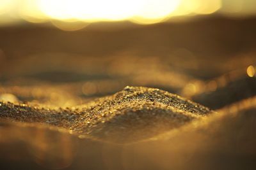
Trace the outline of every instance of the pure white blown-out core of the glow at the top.
{"label": "pure white blown-out core of the glow at the top", "polygon": [[[125,20],[137,18],[163,18],[169,15],[180,0],[38,0],[40,10],[58,20]],[[61,4],[61,5],[60,5]]]}

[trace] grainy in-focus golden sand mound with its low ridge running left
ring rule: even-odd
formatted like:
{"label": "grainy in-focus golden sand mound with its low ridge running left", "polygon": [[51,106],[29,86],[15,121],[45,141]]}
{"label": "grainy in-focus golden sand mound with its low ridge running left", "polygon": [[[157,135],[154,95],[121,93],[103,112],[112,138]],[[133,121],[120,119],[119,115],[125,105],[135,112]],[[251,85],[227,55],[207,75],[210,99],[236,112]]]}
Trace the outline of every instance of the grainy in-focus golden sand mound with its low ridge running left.
{"label": "grainy in-focus golden sand mound with its low ridge running left", "polygon": [[80,138],[126,143],[180,127],[211,110],[163,90],[125,87],[113,96],[73,108],[0,103],[0,113],[1,118],[61,127]]}

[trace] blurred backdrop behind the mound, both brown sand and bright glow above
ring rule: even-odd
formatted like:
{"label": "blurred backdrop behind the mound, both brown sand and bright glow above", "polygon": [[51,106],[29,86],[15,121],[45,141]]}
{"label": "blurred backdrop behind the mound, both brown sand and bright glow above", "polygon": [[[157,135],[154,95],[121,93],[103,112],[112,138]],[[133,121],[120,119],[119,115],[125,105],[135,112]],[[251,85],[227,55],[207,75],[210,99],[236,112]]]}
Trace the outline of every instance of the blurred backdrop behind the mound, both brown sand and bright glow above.
{"label": "blurred backdrop behind the mound, both brown sand and bright glow above", "polygon": [[57,96],[42,97],[45,86],[79,99],[126,85],[185,97],[214,91],[237,80],[223,74],[255,75],[255,8],[253,0],[2,0],[2,92],[42,102]]}

